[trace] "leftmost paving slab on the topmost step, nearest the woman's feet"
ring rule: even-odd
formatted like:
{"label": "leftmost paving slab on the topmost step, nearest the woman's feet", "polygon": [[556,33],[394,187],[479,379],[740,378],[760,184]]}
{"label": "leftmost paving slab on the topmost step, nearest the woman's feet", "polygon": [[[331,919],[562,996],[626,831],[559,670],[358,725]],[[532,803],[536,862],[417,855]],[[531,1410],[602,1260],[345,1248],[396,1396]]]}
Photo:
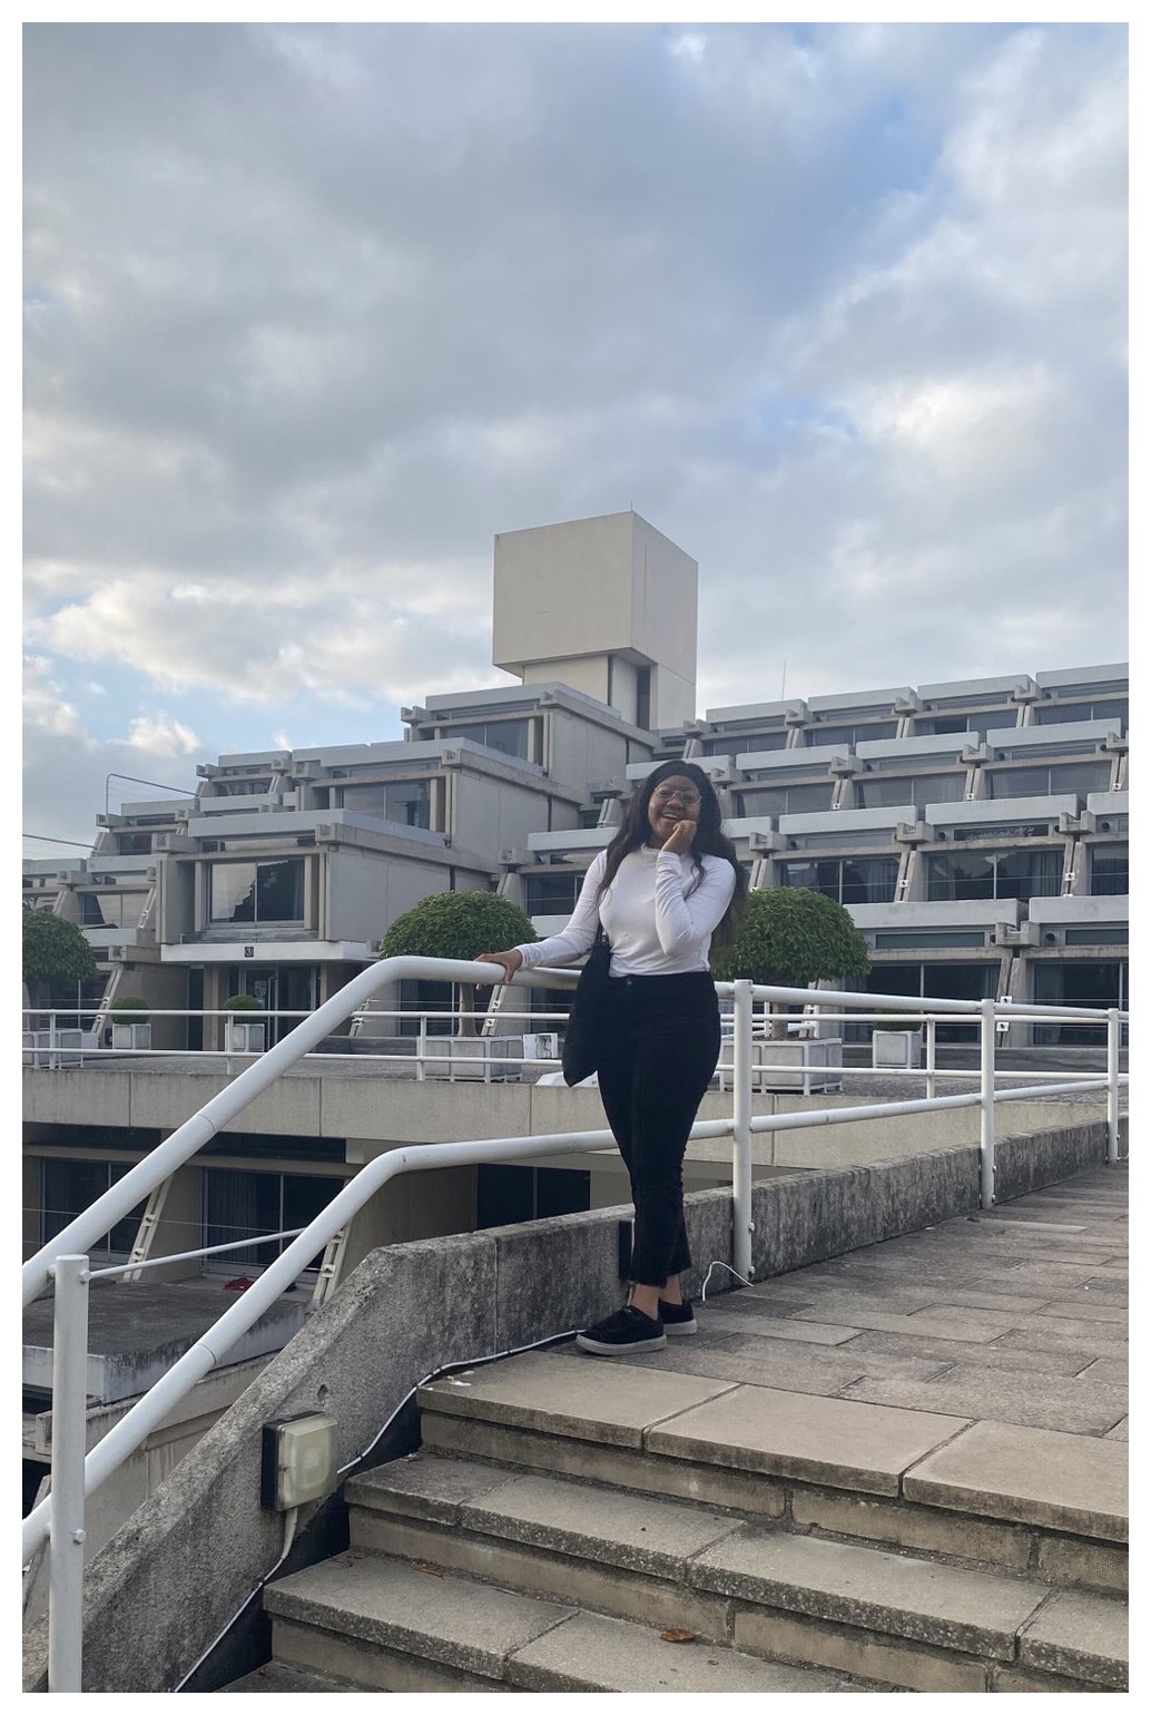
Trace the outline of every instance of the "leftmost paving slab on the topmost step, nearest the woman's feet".
{"label": "leftmost paving slab on the topmost step, nearest the woman's feet", "polygon": [[602,1363],[583,1353],[580,1360],[573,1362],[566,1353],[527,1351],[431,1382],[419,1389],[417,1403],[489,1423],[638,1447],[654,1423],[714,1399],[731,1386]]}

